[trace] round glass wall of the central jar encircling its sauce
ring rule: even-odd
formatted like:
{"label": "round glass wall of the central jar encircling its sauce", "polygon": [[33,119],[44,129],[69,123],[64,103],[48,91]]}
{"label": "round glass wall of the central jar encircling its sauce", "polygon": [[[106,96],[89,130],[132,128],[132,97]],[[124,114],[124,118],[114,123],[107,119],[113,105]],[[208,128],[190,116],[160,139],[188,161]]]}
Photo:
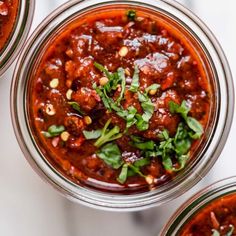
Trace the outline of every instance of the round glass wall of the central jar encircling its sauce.
{"label": "round glass wall of the central jar encircling its sauce", "polygon": [[[195,153],[194,159],[167,184],[149,192],[131,195],[92,190],[66,178],[40,151],[30,127],[27,107],[30,75],[35,71],[35,66],[38,65],[38,60],[50,40],[78,16],[119,8],[136,9],[161,16],[191,38],[193,46],[199,51],[206,73],[213,78],[211,83],[214,88],[211,121],[204,142]],[[16,66],[11,90],[11,113],[15,134],[25,157],[35,171],[70,199],[91,207],[113,211],[134,211],[163,204],[183,194],[201,180],[214,165],[224,147],[231,127],[233,109],[231,72],[217,40],[193,13],[177,2],[169,0],[68,1],[48,16],[31,36]]]}

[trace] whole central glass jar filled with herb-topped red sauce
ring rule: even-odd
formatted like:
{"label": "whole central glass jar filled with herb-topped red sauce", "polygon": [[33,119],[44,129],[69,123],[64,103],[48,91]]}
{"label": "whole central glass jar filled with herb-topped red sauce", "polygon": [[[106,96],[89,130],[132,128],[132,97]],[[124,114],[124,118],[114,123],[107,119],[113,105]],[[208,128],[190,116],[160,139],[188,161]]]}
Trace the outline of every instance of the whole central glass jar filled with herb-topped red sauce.
{"label": "whole central glass jar filled with herb-topped red sauce", "polygon": [[139,210],[212,167],[233,114],[227,61],[206,26],[169,1],[71,1],[32,35],[12,118],[31,165],[66,196]]}

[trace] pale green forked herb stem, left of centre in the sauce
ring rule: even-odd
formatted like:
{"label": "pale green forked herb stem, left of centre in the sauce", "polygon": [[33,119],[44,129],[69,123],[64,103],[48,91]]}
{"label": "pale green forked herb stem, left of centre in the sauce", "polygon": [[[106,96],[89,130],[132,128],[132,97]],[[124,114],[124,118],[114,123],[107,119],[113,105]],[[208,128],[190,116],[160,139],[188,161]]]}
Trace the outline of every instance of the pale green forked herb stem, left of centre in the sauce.
{"label": "pale green forked herb stem, left of centre in the sauce", "polygon": [[101,147],[105,143],[111,142],[122,137],[122,134],[120,133],[120,128],[118,126],[115,126],[111,130],[108,130],[108,126],[110,125],[110,123],[111,119],[107,121],[104,128],[102,129],[100,138],[94,143],[96,147]]}

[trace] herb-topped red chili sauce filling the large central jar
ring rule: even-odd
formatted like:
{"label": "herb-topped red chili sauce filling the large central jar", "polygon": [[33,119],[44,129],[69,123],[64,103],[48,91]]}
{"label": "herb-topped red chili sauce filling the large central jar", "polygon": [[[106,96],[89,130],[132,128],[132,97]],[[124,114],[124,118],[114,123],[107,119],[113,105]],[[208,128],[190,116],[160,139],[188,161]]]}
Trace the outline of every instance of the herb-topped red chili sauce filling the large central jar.
{"label": "herb-topped red chili sauce filling the large central jar", "polygon": [[51,41],[30,88],[46,158],[78,184],[138,192],[170,181],[199,147],[211,86],[190,42],[134,10],[77,20]]}

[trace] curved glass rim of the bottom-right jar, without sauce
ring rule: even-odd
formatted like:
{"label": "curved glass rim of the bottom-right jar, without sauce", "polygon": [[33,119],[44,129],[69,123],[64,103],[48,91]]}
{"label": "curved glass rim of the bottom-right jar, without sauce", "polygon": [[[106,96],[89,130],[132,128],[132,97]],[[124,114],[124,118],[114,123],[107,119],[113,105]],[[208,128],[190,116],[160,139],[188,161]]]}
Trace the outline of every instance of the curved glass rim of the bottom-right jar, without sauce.
{"label": "curved glass rim of the bottom-right jar, without sauce", "polygon": [[223,199],[236,194],[236,177],[218,181],[203,189],[184,203],[171,217],[161,236],[179,235],[184,226],[204,207],[217,199]]}

